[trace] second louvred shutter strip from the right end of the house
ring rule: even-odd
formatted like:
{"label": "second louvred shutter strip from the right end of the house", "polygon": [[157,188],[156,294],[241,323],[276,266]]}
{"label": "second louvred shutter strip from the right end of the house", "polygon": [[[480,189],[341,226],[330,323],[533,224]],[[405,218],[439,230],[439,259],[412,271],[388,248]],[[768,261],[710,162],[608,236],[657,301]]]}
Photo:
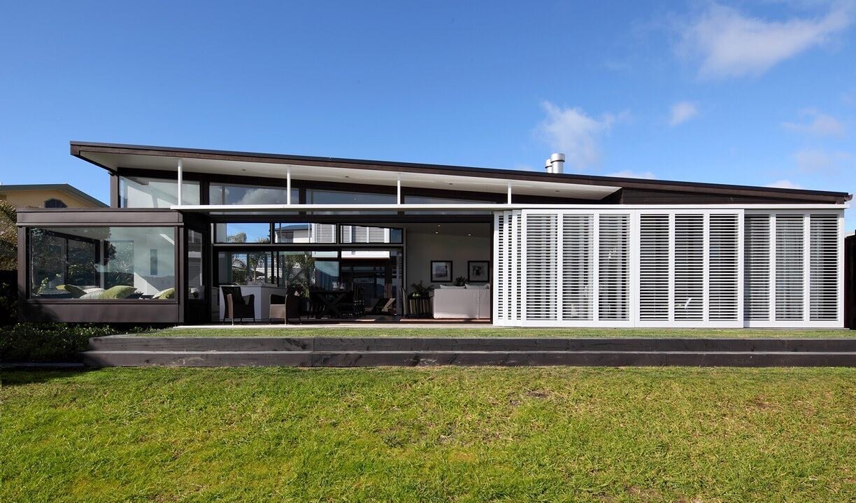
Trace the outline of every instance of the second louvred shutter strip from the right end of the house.
{"label": "second louvred shutter strip from the right end of the house", "polygon": [[805,217],[776,215],[776,320],[803,320]]}

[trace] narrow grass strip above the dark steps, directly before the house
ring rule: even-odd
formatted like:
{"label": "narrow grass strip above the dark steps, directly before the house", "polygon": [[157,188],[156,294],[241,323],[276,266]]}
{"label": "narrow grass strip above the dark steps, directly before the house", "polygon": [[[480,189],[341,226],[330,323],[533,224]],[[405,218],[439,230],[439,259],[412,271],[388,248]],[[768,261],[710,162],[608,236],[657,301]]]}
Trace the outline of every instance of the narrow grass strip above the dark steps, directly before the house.
{"label": "narrow grass strip above the dark steps, directly before the house", "polygon": [[145,335],[169,337],[710,337],[710,338],[841,338],[856,337],[853,330],[782,330],[713,328],[518,328],[455,326],[416,328],[395,325],[291,326],[288,328],[239,326],[170,328]]}

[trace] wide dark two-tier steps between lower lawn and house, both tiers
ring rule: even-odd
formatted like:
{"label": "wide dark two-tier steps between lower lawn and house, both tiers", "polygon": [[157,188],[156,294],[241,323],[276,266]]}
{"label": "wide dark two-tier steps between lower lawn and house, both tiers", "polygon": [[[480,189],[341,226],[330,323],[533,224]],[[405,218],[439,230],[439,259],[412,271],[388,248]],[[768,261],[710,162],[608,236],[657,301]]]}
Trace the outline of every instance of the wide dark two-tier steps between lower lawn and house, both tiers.
{"label": "wide dark two-tier steps between lower lawn and house, both tiers", "polygon": [[854,367],[856,338],[91,338],[92,367]]}

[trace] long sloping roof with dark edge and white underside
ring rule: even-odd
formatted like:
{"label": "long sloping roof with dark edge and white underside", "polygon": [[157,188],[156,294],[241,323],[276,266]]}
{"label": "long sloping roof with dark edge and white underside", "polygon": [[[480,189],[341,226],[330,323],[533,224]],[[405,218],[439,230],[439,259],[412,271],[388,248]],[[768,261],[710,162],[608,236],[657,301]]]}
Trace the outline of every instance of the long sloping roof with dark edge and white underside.
{"label": "long sloping roof with dark edge and white underside", "polygon": [[[152,147],[115,143],[72,141],[71,154],[108,171],[138,168],[247,177],[291,177],[300,180],[351,182],[426,189],[504,193],[508,185],[515,195],[541,195],[621,203],[713,201],[764,201],[843,203],[847,192],[778,189],[722,183],[678,182],[626,177],[556,174],[455,165],[431,165],[368,159],[343,159],[291,154],[235,152],[179,147]],[[319,170],[324,168],[324,170]],[[344,180],[344,178],[351,178]],[[449,186],[452,187],[449,187]]]}

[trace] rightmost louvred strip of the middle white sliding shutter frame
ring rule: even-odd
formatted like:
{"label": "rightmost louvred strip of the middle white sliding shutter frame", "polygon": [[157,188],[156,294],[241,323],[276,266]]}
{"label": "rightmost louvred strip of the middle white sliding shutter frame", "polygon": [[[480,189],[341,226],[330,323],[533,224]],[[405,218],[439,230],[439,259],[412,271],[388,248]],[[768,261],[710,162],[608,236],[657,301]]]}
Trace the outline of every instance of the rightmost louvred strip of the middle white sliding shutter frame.
{"label": "rightmost louvred strip of the middle white sliding shutter frame", "polygon": [[708,249],[708,320],[737,320],[740,221],[734,214],[711,214]]}

